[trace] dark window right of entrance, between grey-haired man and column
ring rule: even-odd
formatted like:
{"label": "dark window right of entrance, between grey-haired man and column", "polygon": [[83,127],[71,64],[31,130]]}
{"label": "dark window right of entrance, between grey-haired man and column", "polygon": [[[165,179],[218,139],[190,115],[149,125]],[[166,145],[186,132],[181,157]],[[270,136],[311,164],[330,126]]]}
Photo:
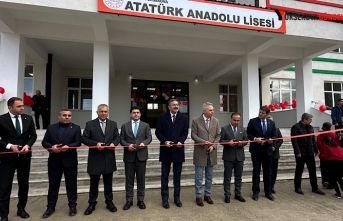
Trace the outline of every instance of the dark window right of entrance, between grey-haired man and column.
{"label": "dark window right of entrance, between grey-haired man and column", "polygon": [[219,85],[220,112],[237,112],[237,86]]}

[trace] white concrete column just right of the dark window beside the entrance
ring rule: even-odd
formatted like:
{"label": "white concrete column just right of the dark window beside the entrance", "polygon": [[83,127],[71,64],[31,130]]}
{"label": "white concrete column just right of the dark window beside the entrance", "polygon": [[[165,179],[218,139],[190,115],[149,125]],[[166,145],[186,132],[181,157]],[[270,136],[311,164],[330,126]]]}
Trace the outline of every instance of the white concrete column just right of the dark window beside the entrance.
{"label": "white concrete column just right of the dark window beside the entrance", "polygon": [[242,103],[243,127],[251,118],[258,116],[260,109],[259,73],[257,55],[247,54],[242,58]]}

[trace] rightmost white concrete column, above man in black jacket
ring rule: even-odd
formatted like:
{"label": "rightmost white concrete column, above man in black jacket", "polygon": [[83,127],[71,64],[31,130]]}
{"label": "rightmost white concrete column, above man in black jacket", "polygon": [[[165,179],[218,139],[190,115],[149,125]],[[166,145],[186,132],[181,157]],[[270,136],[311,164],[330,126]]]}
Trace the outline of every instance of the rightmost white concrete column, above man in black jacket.
{"label": "rightmost white concrete column, above man in black jacket", "polygon": [[297,91],[297,121],[303,113],[310,113],[313,101],[312,60],[299,59],[295,62],[295,81]]}

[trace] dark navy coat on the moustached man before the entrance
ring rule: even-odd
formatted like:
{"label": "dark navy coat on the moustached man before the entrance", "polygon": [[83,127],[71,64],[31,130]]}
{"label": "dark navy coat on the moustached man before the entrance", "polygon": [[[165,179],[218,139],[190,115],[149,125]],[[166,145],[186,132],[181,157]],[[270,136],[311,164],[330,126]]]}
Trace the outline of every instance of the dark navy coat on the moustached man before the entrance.
{"label": "dark navy coat on the moustached man before the entrance", "polygon": [[[176,114],[176,119],[173,124],[170,111],[162,113],[158,117],[155,135],[164,145],[166,141],[172,141],[174,144],[180,142],[185,143],[188,136],[188,118],[180,111]],[[185,148],[160,146],[160,162],[185,162]]]}

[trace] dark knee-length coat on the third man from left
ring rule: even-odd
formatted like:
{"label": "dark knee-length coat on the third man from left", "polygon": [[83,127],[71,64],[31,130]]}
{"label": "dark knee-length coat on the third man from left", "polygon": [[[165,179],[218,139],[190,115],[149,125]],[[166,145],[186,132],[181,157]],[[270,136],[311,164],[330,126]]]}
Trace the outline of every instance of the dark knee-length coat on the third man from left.
{"label": "dark knee-length coat on the third man from left", "polygon": [[[120,142],[117,123],[106,119],[106,130],[103,134],[99,119],[88,121],[83,131],[81,142],[86,146],[96,146],[98,142],[105,143],[109,146],[113,143],[117,146]],[[101,175],[113,173],[117,170],[115,151],[105,148],[89,148],[87,173],[90,175]]]}

